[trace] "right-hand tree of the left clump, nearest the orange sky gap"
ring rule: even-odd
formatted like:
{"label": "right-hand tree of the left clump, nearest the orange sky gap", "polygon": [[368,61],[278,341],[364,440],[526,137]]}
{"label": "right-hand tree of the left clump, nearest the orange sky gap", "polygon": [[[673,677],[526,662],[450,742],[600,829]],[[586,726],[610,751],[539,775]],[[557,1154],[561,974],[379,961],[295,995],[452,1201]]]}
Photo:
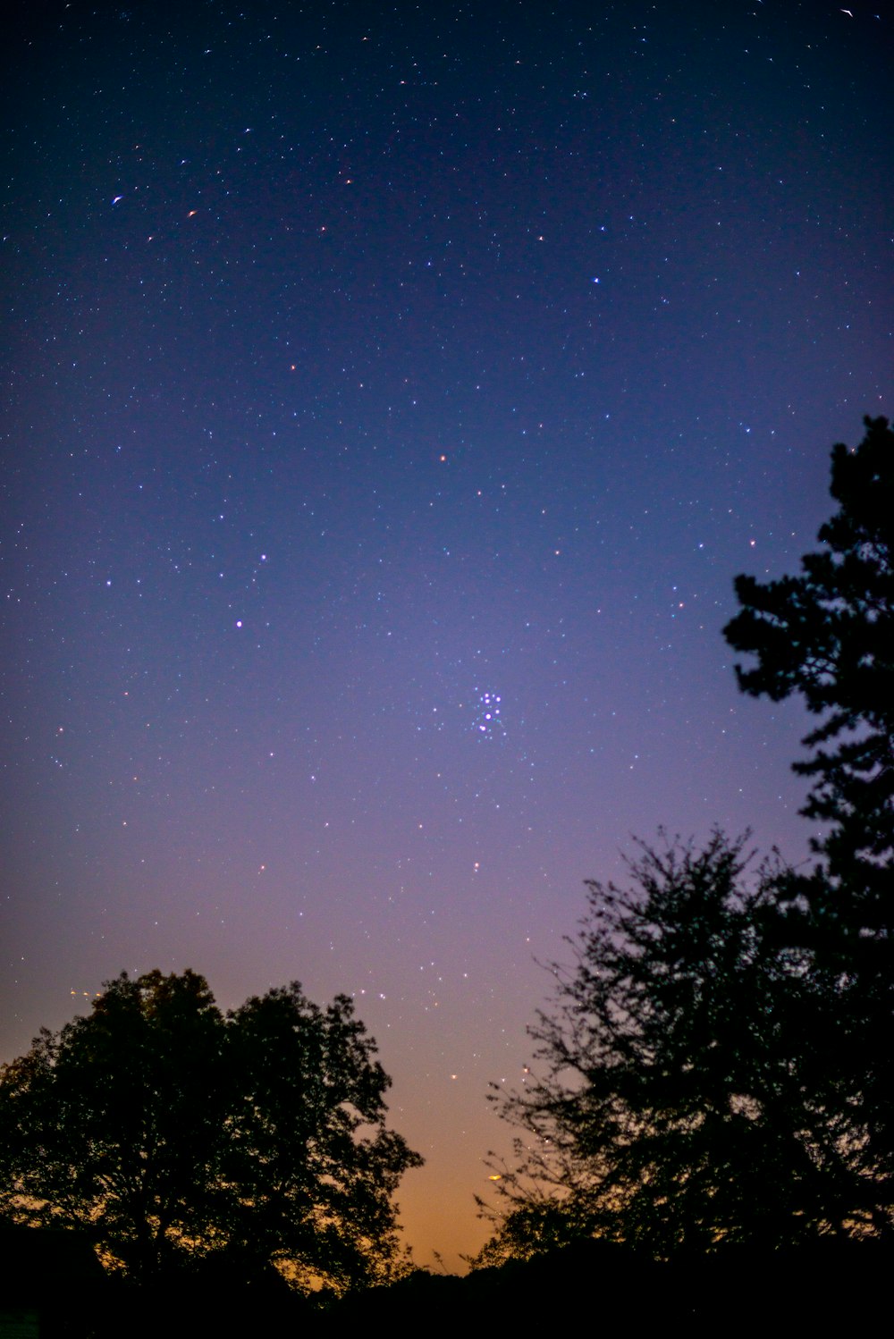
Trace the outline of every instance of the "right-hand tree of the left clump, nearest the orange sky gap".
{"label": "right-hand tree of the left clump, nearest the orange sky gap", "polygon": [[351,1000],[323,1011],[296,984],[273,990],[230,1015],[228,1040],[229,1251],[248,1273],[280,1259],[305,1284],[381,1281],[399,1253],[392,1194],[422,1160],[385,1129],[391,1081]]}

